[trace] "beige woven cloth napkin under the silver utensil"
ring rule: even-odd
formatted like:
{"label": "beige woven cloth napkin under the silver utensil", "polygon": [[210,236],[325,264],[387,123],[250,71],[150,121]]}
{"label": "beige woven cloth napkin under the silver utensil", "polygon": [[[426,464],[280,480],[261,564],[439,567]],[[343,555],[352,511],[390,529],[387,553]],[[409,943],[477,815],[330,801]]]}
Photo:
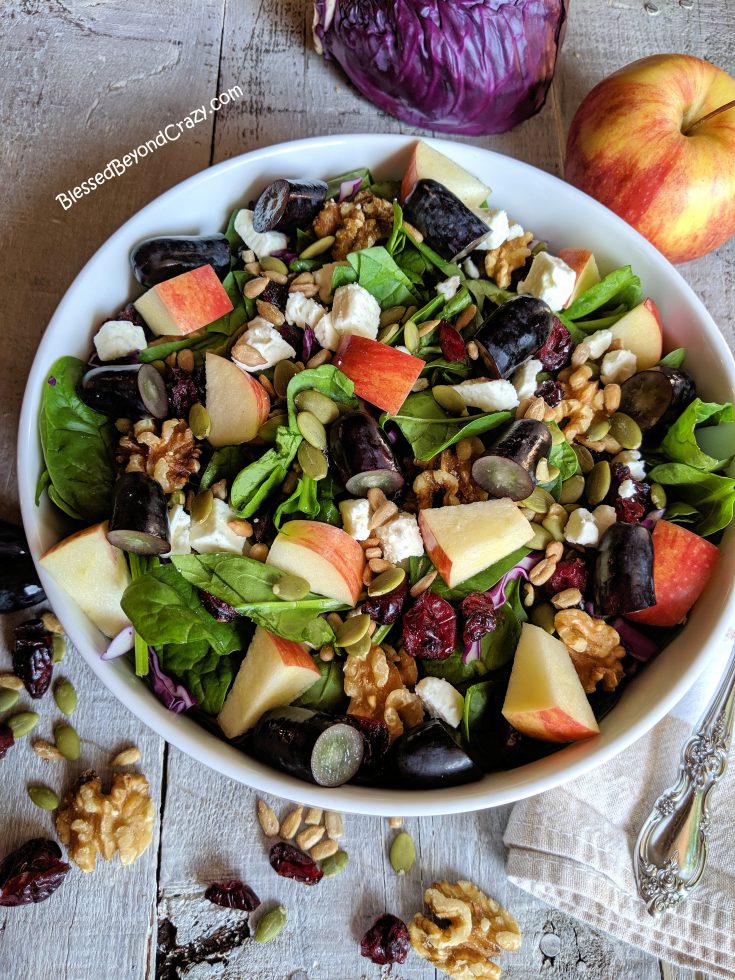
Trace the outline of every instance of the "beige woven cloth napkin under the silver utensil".
{"label": "beige woven cloth napkin under the silver utensil", "polygon": [[516,885],[654,956],[735,978],[735,763],[710,797],[707,868],[676,912],[653,919],[638,898],[632,850],[727,660],[706,671],[648,735],[587,776],[514,807],[505,831]]}

